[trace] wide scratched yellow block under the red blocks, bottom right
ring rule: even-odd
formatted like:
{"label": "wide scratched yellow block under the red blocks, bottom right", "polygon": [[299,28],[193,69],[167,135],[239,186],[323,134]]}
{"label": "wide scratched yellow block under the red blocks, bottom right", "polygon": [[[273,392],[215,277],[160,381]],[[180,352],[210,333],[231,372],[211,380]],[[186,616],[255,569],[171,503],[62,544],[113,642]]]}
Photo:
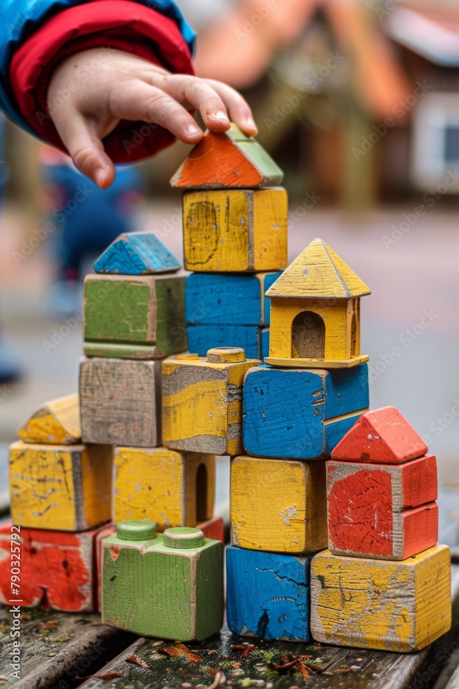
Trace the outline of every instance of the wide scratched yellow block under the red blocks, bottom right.
{"label": "wide scratched yellow block under the red blocks, bottom right", "polygon": [[311,632],[337,646],[412,652],[451,627],[450,558],[434,546],[401,562],[318,553]]}

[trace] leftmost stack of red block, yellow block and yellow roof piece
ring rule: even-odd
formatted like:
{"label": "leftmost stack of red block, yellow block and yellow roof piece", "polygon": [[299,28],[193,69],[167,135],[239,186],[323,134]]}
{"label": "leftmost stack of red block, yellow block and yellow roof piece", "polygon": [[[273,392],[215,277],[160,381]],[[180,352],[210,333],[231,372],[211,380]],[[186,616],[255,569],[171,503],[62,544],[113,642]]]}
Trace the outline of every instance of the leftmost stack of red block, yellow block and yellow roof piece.
{"label": "leftmost stack of red block, yellow block and yellow roof piece", "polygon": [[0,526],[0,601],[90,612],[98,606],[96,542],[111,519],[111,446],[81,442],[78,395],[43,404],[18,435],[12,521]]}

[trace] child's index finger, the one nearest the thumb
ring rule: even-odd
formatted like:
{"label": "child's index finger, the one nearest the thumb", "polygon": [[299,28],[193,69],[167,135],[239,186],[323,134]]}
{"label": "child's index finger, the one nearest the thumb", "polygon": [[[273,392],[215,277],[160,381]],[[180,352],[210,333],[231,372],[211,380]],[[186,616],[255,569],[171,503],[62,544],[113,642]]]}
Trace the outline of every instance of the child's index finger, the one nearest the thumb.
{"label": "child's index finger, the one nearest the thumb", "polygon": [[120,84],[110,94],[110,114],[119,119],[152,122],[166,127],[185,143],[198,143],[204,132],[183,105],[140,79]]}

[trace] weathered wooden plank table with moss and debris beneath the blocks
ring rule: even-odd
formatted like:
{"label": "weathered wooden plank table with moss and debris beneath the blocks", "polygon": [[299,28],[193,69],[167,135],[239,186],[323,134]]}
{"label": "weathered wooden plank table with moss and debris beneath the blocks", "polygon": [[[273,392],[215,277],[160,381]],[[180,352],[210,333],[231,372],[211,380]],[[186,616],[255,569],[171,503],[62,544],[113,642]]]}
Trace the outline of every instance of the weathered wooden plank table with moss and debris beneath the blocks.
{"label": "weathered wooden plank table with moss and debris beneath the blocks", "polygon": [[[442,489],[440,542],[459,543],[459,491]],[[456,546],[456,549],[455,549]],[[432,591],[435,595],[435,591]],[[268,643],[225,628],[186,655],[154,639],[99,624],[97,615],[24,610],[21,671],[13,677],[12,615],[0,609],[0,689],[459,689],[459,565],[452,566],[453,627],[429,648],[404,655],[318,644]],[[191,654],[190,654],[191,652]],[[279,670],[279,665],[290,668]],[[89,675],[101,675],[83,679]],[[104,677],[105,676],[105,677]]]}

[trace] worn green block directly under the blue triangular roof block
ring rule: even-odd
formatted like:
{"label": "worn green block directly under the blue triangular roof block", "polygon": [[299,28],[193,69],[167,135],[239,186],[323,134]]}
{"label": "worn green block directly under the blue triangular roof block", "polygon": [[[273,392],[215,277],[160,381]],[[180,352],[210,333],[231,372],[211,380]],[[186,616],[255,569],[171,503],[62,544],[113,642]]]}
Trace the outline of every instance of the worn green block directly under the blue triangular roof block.
{"label": "worn green block directly under the blue triangular roof block", "polygon": [[184,276],[87,275],[87,356],[160,359],[186,349]]}

